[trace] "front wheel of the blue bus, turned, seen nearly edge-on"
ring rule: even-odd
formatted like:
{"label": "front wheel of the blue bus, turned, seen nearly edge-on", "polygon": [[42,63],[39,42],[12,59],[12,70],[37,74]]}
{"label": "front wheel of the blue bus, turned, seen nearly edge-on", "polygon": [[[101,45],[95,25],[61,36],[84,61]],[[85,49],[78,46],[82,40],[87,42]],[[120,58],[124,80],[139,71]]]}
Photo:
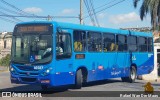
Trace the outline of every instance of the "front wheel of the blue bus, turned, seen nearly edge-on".
{"label": "front wheel of the blue bus, turned, seen nearly edge-on", "polygon": [[81,87],[82,87],[82,70],[79,69],[76,73],[75,88],[80,89]]}

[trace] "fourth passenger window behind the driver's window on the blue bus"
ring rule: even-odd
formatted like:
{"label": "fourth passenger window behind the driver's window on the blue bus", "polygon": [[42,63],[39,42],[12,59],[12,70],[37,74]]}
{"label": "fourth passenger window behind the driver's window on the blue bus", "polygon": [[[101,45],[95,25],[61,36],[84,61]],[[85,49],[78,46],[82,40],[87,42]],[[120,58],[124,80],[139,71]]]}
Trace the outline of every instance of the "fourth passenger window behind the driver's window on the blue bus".
{"label": "fourth passenger window behind the driver's window on the blue bus", "polygon": [[127,51],[127,36],[117,35],[117,45],[118,51]]}

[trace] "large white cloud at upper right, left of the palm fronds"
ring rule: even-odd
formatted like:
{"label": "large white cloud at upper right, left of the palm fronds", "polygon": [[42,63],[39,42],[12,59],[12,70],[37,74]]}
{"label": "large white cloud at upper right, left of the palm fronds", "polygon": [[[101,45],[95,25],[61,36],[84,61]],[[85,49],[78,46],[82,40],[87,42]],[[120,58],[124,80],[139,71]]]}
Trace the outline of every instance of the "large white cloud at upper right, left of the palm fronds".
{"label": "large white cloud at upper right, left of the palm fronds", "polygon": [[139,15],[136,14],[135,12],[131,12],[128,14],[112,15],[109,18],[109,21],[113,24],[129,23],[139,20],[140,20]]}

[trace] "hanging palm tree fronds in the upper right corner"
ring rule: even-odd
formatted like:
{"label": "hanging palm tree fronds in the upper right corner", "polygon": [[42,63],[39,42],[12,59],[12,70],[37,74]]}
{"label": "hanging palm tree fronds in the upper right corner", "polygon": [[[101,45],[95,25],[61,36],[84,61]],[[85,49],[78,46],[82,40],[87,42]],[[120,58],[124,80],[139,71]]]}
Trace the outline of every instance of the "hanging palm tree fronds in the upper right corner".
{"label": "hanging palm tree fronds in the upper right corner", "polygon": [[[134,7],[137,7],[137,4],[140,0],[133,0]],[[143,0],[140,7],[140,18],[141,20],[150,13],[151,16],[151,25],[153,30],[156,30],[156,27],[160,28],[160,0]]]}

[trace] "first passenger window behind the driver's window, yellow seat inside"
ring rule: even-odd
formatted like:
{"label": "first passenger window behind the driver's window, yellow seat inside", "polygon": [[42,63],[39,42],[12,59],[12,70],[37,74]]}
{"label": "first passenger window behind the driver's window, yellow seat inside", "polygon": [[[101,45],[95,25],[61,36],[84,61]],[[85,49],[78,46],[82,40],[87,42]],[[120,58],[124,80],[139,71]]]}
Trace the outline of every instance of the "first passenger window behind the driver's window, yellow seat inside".
{"label": "first passenger window behind the driver's window, yellow seat inside", "polygon": [[86,33],[84,31],[74,31],[74,51],[83,52],[86,50]]}

